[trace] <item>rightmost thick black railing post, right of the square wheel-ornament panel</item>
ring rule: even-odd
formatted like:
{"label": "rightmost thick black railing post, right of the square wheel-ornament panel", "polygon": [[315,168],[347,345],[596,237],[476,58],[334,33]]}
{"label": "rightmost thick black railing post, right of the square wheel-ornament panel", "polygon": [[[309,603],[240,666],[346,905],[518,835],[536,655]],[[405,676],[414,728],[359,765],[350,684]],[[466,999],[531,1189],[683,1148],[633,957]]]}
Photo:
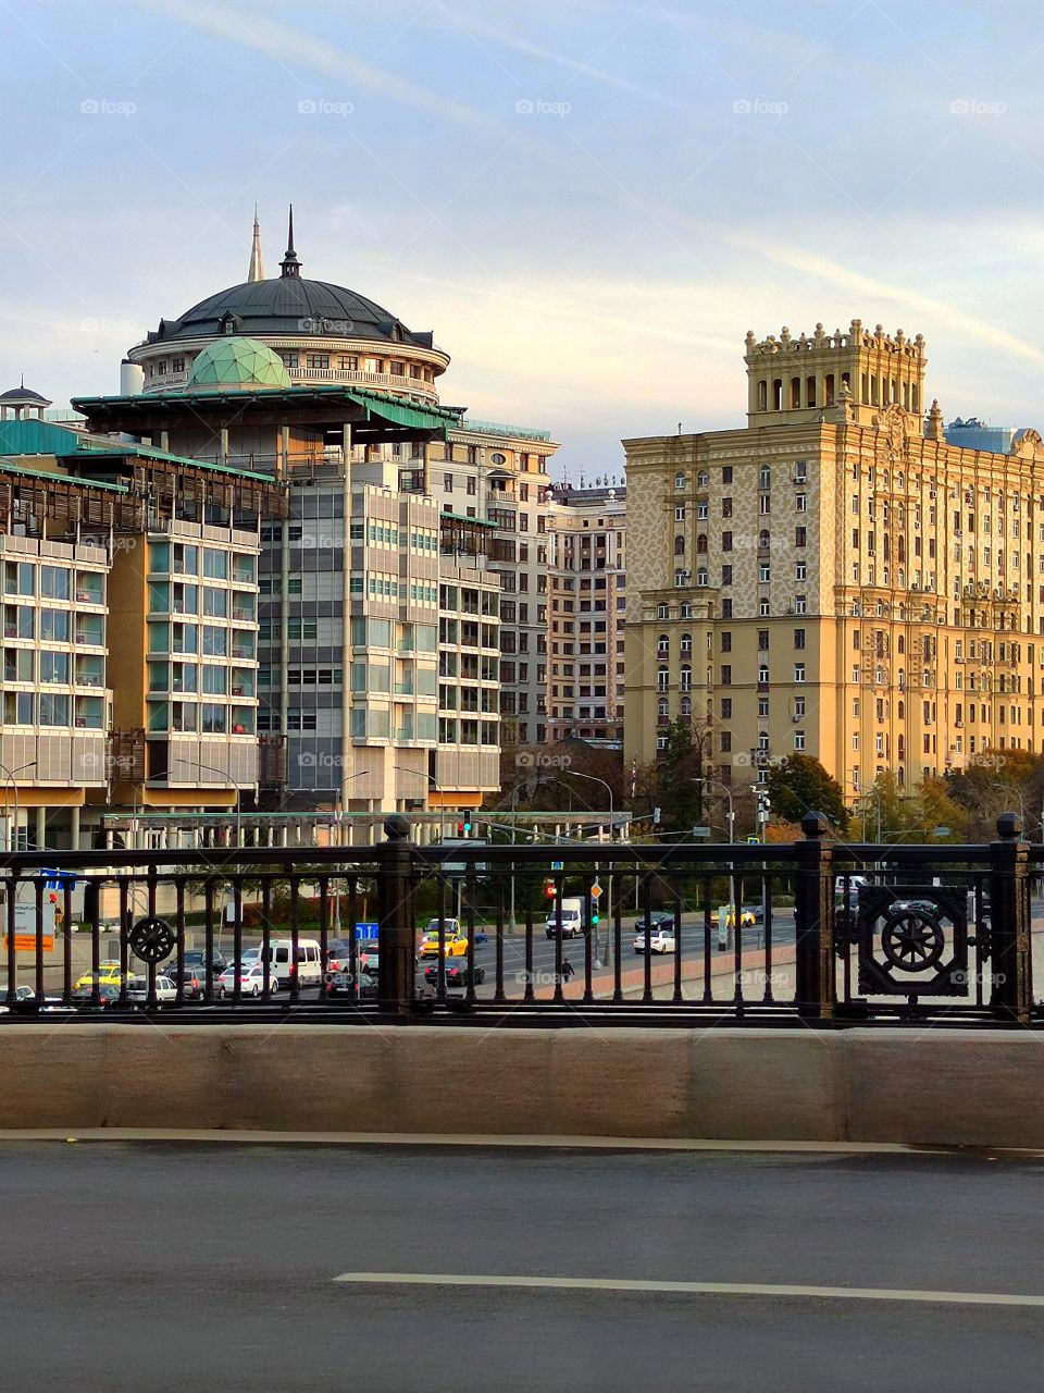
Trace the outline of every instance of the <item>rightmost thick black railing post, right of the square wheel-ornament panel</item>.
{"label": "rightmost thick black railing post, right of the square wheel-ornament panel", "polygon": [[1033,949],[1029,855],[1022,818],[1002,812],[1001,839],[990,847],[990,1006],[1022,1024],[1033,1014]]}

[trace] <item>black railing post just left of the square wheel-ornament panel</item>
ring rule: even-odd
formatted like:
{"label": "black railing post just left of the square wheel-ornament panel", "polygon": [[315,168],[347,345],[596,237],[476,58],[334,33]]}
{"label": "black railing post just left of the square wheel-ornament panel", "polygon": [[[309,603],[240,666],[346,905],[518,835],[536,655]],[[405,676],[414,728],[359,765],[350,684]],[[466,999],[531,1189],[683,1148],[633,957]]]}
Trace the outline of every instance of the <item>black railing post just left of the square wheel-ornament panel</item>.
{"label": "black railing post just left of the square wheel-ornament panel", "polygon": [[802,818],[805,841],[793,843],[796,894],[793,919],[795,1004],[805,1020],[832,1020],[837,1002],[834,960],[834,853],[823,844],[830,822],[821,812]]}

